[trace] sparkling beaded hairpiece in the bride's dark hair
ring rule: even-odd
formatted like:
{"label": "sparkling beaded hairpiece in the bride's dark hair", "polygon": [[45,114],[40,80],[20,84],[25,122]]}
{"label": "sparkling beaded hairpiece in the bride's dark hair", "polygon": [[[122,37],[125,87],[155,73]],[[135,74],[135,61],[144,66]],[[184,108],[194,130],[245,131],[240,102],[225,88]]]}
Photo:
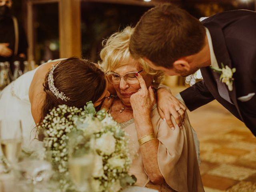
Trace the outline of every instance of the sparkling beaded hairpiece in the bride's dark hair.
{"label": "sparkling beaded hairpiece in the bride's dark hair", "polygon": [[53,71],[60,64],[60,62],[58,62],[58,64],[56,64],[55,66],[52,66],[48,74],[48,86],[52,94],[54,94],[57,98],[60,98],[62,101],[67,101],[70,100],[70,98],[66,97],[63,92],[59,92],[59,90],[54,86]]}

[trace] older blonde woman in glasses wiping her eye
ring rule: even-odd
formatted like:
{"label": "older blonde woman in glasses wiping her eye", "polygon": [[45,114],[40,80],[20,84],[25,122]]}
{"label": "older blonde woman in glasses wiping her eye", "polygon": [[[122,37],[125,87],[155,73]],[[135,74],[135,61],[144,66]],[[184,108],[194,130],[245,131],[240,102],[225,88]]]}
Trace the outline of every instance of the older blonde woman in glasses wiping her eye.
{"label": "older blonde woman in glasses wiping her eye", "polygon": [[132,31],[127,27],[113,34],[100,52],[100,64],[117,94],[109,112],[131,140],[134,159],[130,174],[136,176],[138,186],[162,192],[202,192],[188,116],[182,129],[176,124],[174,130],[160,118],[154,88],[163,73],[131,58],[128,46]]}

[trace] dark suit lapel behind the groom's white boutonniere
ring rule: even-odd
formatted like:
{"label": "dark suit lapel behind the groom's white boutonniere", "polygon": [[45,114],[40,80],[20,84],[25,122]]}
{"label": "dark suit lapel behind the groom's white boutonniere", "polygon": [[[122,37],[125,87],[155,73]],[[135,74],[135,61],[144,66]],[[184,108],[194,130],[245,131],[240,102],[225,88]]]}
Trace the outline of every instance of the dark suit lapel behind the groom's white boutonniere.
{"label": "dark suit lapel behind the groom's white boutonniere", "polygon": [[[212,46],[213,46],[213,49],[214,49],[214,54],[216,56],[216,60],[218,62],[219,68],[222,68],[221,63],[223,63],[224,66],[227,65],[228,67],[232,68],[232,62],[230,60],[228,50],[226,48],[225,38],[224,38],[224,35],[223,35],[223,32],[222,32],[222,29],[220,28],[220,26],[218,24],[216,24],[214,22],[211,22],[210,24],[204,23],[204,26],[206,26],[208,28],[208,30],[211,34]],[[236,83],[236,80],[233,81],[233,90],[232,91],[228,90],[228,93],[230,95],[230,98],[231,98],[232,102],[236,106],[236,109],[237,109],[239,115],[241,116],[240,110],[239,110],[239,107],[238,107],[238,103],[237,103],[237,99],[236,99],[235,83]],[[226,86],[226,84],[225,84],[225,86]],[[226,88],[228,89],[227,86],[226,86]],[[217,90],[217,92],[218,92],[218,90]],[[241,118],[242,118],[242,116],[241,116]]]}

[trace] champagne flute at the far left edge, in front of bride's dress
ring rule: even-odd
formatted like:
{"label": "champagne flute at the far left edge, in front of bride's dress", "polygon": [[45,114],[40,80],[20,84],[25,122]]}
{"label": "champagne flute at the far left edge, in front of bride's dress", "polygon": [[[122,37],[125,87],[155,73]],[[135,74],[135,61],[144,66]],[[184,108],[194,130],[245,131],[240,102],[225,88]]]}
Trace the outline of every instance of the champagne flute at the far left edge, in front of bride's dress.
{"label": "champagne flute at the far left edge, in front of bride's dress", "polygon": [[4,157],[10,165],[14,166],[18,162],[22,145],[21,120],[0,120],[0,144]]}

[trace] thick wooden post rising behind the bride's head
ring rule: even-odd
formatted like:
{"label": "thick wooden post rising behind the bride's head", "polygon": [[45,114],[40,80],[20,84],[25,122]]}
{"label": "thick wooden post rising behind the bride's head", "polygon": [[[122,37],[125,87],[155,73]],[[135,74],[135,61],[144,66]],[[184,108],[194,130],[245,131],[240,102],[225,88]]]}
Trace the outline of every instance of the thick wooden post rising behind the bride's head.
{"label": "thick wooden post rising behind the bride's head", "polygon": [[81,56],[80,0],[59,1],[60,58]]}

